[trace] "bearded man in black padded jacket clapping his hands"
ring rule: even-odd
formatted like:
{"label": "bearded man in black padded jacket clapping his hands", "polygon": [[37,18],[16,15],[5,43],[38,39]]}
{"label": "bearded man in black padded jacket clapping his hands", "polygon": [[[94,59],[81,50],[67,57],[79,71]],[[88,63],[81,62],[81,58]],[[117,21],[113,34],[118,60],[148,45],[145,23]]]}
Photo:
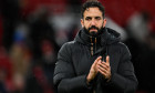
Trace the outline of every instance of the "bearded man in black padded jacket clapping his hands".
{"label": "bearded man in black padded jacket clapping his hands", "polygon": [[104,7],[82,7],[82,29],[58,54],[54,84],[59,93],[134,93],[137,80],[120,34],[105,28]]}

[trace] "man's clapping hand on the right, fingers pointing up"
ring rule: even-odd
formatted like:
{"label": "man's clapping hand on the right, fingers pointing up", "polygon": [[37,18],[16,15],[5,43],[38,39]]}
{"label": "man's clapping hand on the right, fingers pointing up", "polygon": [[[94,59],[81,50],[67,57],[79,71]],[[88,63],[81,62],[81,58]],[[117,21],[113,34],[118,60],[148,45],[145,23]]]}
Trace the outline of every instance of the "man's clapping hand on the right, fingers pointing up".
{"label": "man's clapping hand on the right, fingers pointing up", "polygon": [[104,75],[107,81],[111,80],[111,66],[110,66],[110,56],[106,56],[106,62],[100,61],[96,63],[97,71]]}

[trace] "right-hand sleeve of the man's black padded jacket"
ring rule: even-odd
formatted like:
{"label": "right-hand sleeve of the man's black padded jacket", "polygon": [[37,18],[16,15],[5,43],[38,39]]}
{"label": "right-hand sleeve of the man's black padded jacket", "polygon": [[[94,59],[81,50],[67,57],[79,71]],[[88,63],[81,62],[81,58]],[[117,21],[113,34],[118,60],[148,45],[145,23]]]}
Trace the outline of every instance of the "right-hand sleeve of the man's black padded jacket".
{"label": "right-hand sleeve of the man's black padded jacket", "polygon": [[131,53],[126,45],[121,46],[121,59],[117,73],[112,72],[111,81],[107,83],[121,93],[134,93],[137,87],[137,79],[131,62]]}

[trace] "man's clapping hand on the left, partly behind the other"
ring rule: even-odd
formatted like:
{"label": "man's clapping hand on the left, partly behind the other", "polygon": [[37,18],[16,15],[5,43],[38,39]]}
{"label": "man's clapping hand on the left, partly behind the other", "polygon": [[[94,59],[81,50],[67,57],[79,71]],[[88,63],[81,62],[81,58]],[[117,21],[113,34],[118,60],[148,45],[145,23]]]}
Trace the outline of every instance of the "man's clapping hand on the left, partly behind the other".
{"label": "man's clapping hand on the left, partly behind the other", "polygon": [[87,78],[86,78],[86,80],[87,80],[86,83],[91,82],[91,81],[96,76],[96,74],[97,74],[97,72],[99,72],[99,71],[97,71],[97,68],[96,68],[96,64],[102,62],[101,59],[102,59],[102,56],[99,56],[99,58],[94,61],[94,63],[92,64],[91,70],[90,70],[90,73],[89,73],[89,75],[87,75]]}

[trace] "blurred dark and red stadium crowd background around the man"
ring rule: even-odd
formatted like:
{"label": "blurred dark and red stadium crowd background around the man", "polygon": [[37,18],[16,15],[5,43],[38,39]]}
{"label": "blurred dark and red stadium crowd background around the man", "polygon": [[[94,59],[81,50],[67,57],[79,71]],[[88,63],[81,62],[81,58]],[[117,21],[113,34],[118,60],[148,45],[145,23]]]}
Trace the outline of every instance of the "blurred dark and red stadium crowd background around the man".
{"label": "blurred dark and red stadium crowd background around the man", "polygon": [[[0,93],[56,93],[56,54],[80,30],[85,1],[0,0]],[[99,1],[132,53],[136,93],[155,93],[155,0]]]}

